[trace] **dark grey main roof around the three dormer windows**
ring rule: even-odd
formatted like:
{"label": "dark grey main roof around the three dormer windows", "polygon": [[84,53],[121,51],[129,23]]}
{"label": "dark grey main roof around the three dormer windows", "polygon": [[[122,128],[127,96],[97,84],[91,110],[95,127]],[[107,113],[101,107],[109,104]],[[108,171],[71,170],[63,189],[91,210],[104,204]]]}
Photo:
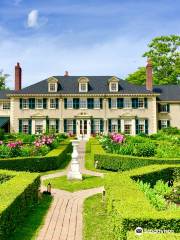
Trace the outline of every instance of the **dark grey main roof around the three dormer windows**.
{"label": "dark grey main roof around the three dormer windows", "polygon": [[[58,92],[54,94],[83,94],[79,92],[78,79],[82,76],[53,76],[58,79]],[[88,94],[109,94],[108,80],[113,76],[83,76],[89,79]],[[137,86],[122,79],[119,79],[119,91],[121,94],[152,94],[144,86]],[[47,94],[48,79],[23,88],[20,91],[14,91],[16,94]],[[51,93],[53,94],[53,93]]]}

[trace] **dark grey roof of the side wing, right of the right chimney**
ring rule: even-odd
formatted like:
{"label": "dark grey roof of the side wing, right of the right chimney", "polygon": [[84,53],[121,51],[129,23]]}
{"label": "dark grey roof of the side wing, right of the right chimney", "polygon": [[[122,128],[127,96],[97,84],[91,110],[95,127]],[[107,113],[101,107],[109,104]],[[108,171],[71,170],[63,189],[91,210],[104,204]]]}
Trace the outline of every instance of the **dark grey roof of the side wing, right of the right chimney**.
{"label": "dark grey roof of the side wing, right of the right chimney", "polygon": [[180,85],[157,85],[153,92],[159,93],[157,100],[160,101],[180,101]]}

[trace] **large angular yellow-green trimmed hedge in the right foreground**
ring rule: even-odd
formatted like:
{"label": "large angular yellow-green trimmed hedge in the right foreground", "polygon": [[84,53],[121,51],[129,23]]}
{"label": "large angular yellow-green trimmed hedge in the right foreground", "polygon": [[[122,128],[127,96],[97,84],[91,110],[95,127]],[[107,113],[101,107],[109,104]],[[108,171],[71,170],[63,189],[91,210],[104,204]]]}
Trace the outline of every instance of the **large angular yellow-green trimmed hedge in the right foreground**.
{"label": "large angular yellow-green trimmed hedge in the right foreground", "polygon": [[[124,173],[111,173],[106,177],[105,189],[108,213],[112,218],[111,228],[115,239],[126,240],[127,232],[136,227],[180,232],[180,209],[157,211],[145,194],[132,180],[151,172],[157,175],[162,169],[177,168],[177,165],[153,165]],[[160,173],[159,176],[161,175]]]}

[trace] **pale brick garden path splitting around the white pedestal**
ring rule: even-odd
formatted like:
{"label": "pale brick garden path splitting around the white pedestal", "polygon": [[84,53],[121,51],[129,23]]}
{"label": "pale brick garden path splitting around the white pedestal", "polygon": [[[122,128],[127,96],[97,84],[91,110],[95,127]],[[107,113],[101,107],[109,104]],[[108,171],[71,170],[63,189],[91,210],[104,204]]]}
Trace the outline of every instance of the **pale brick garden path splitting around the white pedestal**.
{"label": "pale brick garden path splitting around the white pedestal", "polygon": [[[85,169],[85,144],[85,141],[81,141],[78,147],[81,173],[103,177],[103,173]],[[42,180],[64,176],[69,168],[70,164],[65,171],[42,176]],[[52,189],[54,200],[37,240],[82,240],[83,202],[91,195],[102,193],[103,189],[104,187],[99,187],[74,193]]]}

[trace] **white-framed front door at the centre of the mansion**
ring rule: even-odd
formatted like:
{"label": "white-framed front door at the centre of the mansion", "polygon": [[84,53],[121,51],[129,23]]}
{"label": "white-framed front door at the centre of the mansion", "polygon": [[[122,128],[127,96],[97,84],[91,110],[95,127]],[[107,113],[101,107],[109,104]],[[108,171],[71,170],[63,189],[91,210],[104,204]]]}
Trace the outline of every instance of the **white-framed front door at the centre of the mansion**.
{"label": "white-framed front door at the centre of the mansion", "polygon": [[87,119],[78,120],[79,129],[77,131],[78,138],[87,139],[90,135],[90,124]]}

